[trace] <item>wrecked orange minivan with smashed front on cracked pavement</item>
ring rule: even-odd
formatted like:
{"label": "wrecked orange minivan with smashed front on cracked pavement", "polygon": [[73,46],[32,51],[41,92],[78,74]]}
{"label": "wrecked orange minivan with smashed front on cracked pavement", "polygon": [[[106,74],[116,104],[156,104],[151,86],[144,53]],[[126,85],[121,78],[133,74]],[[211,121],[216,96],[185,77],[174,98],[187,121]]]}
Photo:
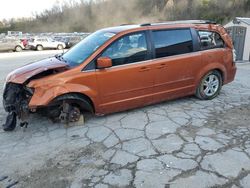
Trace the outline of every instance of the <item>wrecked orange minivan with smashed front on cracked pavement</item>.
{"label": "wrecked orange minivan with smashed front on cracked pavement", "polygon": [[213,99],[236,73],[231,38],[211,21],[189,20],[101,29],[68,52],[11,72],[4,130],[30,112],[54,121],[97,115],[195,94]]}

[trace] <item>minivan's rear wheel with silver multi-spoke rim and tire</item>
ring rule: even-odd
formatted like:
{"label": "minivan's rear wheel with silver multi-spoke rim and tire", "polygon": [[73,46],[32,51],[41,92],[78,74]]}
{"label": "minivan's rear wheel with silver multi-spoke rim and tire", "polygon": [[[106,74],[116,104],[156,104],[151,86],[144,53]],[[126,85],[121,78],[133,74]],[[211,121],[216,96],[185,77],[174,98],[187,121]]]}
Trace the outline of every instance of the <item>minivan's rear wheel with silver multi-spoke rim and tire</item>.
{"label": "minivan's rear wheel with silver multi-spoke rim and tire", "polygon": [[222,76],[218,71],[214,70],[201,79],[195,95],[201,100],[211,100],[219,95],[221,87]]}

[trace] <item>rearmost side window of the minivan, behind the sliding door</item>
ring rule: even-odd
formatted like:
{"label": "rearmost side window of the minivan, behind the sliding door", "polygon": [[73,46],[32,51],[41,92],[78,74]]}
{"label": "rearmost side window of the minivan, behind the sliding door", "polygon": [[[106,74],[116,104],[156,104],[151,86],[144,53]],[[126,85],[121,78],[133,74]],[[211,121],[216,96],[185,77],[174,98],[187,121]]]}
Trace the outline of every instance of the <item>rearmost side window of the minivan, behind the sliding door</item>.
{"label": "rearmost side window of the minivan, behind the sliding door", "polygon": [[199,31],[201,50],[208,50],[213,48],[223,48],[225,46],[221,36],[212,31]]}

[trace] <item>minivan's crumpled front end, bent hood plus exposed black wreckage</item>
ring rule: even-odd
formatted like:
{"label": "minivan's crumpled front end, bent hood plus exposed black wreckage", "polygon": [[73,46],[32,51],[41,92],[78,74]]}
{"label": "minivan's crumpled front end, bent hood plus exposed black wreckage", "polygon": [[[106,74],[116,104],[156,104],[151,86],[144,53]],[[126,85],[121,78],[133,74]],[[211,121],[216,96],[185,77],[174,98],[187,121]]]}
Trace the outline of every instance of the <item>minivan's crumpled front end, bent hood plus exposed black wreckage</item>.
{"label": "minivan's crumpled front end, bent hood plus exposed black wreckage", "polygon": [[8,116],[3,125],[5,131],[12,131],[16,127],[16,118],[21,120],[20,126],[27,125],[30,112],[29,102],[33,96],[33,89],[28,87],[31,80],[55,75],[69,69],[68,64],[60,61],[59,56],[44,59],[20,67],[6,77],[3,93],[3,106]]}

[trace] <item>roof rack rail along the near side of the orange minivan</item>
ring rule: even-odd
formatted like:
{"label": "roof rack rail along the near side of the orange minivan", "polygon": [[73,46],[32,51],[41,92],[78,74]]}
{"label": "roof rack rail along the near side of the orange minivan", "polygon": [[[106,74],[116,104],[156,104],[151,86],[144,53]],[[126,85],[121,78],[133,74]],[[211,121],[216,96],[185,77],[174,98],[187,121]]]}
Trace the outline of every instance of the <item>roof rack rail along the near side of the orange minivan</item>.
{"label": "roof rack rail along the near side of the orange minivan", "polygon": [[140,26],[171,25],[171,24],[217,24],[217,23],[211,20],[177,20],[177,21],[167,21],[159,23],[144,23],[141,24]]}

